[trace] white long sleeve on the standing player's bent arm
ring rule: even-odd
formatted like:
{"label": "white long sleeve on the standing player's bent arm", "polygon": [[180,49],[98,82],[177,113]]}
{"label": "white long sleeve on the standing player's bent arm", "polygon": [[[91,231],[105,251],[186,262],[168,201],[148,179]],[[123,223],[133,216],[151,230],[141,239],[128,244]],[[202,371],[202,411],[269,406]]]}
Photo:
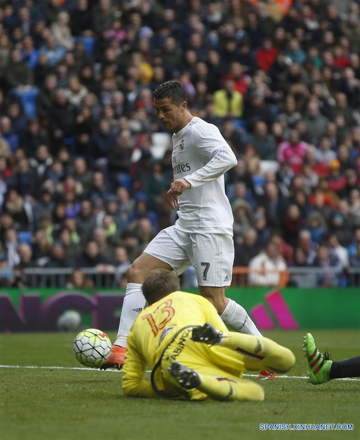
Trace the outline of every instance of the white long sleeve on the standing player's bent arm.
{"label": "white long sleeve on the standing player's bent arm", "polygon": [[202,168],[183,177],[191,188],[216,180],[238,163],[235,154],[215,126],[208,133],[203,129],[192,130],[191,141],[198,154],[207,161]]}

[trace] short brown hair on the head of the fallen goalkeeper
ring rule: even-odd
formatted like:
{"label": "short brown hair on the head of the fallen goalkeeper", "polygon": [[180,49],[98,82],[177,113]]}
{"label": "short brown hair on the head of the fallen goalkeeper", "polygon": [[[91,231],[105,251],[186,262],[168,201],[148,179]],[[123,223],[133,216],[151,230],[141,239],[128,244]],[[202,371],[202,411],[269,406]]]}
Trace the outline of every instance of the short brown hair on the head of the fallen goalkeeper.
{"label": "short brown hair on the head of the fallen goalkeeper", "polygon": [[167,269],[152,270],[142,285],[142,293],[149,304],[156,303],[176,290],[180,290],[179,278]]}

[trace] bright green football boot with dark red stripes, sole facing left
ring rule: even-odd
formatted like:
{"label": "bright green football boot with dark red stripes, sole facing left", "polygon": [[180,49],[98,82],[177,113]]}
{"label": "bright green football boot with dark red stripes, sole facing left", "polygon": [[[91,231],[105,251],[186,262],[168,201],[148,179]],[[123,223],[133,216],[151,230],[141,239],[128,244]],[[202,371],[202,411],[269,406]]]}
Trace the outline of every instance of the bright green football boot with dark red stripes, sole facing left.
{"label": "bright green football boot with dark red stripes, sole facing left", "polygon": [[303,351],[308,365],[309,381],[313,385],[328,382],[330,380],[330,369],[333,363],[330,355],[326,351],[322,354],[317,350],[314,337],[311,333],[307,333],[303,338]]}

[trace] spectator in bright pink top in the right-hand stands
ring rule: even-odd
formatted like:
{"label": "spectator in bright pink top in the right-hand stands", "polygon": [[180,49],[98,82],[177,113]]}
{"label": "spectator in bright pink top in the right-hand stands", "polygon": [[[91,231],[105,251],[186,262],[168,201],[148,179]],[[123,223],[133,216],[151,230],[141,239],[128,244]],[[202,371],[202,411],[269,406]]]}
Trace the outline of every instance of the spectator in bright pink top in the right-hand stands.
{"label": "spectator in bright pink top in the right-hand stands", "polygon": [[279,163],[289,162],[295,175],[301,171],[301,167],[306,157],[308,144],[299,138],[299,132],[292,130],[289,140],[282,142],[277,149],[277,160]]}

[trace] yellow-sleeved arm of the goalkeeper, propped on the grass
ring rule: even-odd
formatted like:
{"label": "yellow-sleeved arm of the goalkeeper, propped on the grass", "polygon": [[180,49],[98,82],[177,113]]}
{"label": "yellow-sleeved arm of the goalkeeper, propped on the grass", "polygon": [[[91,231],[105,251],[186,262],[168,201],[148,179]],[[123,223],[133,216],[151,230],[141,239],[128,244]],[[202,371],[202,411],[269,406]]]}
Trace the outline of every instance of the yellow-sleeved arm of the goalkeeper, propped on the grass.
{"label": "yellow-sleeved arm of the goalkeeper, propped on the grass", "polygon": [[122,372],[122,389],[126,396],[156,397],[151,383],[144,380],[146,361],[136,350],[131,334],[128,338],[126,361]]}

